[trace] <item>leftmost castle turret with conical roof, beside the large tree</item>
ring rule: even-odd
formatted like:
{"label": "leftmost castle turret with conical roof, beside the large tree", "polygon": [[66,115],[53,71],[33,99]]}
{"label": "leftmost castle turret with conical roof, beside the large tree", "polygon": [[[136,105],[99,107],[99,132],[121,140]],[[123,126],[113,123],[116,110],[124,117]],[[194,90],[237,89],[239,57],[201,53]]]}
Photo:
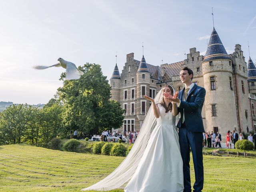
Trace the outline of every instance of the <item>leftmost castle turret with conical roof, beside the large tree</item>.
{"label": "leftmost castle turret with conical roof, beside the large tree", "polygon": [[121,78],[120,78],[120,73],[117,67],[117,64],[114,68],[114,72],[110,78],[110,86],[111,86],[111,97],[112,99],[119,101],[120,100],[120,84],[121,84]]}

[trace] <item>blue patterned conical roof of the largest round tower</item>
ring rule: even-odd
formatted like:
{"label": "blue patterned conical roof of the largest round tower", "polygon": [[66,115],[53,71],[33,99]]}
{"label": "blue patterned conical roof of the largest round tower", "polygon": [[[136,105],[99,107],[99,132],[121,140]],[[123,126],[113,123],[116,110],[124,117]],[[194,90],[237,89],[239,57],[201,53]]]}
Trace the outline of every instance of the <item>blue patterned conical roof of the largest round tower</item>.
{"label": "blue patterned conical roof of the largest round tower", "polygon": [[216,59],[231,60],[220,40],[220,37],[218,36],[218,33],[216,32],[215,28],[213,28],[203,62]]}

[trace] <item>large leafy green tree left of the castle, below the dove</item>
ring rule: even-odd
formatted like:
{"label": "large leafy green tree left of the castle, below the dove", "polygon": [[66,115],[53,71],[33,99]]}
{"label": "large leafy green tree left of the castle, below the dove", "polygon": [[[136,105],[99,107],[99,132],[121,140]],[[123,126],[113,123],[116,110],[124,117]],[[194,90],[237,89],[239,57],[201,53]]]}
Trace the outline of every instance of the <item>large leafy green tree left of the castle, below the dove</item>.
{"label": "large leafy green tree left of the castle, below the dove", "polygon": [[[104,128],[119,128],[124,118],[120,104],[110,100],[110,85],[100,65],[84,64],[79,80],[64,80],[58,96],[64,103],[64,122],[70,130],[95,134]],[[65,74],[62,74],[63,80]]]}

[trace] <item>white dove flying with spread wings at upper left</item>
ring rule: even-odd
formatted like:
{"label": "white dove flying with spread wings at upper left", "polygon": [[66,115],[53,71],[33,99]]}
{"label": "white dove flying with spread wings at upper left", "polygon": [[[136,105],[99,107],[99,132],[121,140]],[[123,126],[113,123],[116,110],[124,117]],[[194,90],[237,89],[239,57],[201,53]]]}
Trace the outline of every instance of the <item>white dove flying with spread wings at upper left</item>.
{"label": "white dove flying with spread wings at upper left", "polygon": [[66,61],[62,58],[58,58],[59,63],[51,66],[34,66],[35,69],[46,69],[49,67],[63,67],[66,69],[66,80],[79,79],[84,74],[79,70],[76,65],[72,62]]}

